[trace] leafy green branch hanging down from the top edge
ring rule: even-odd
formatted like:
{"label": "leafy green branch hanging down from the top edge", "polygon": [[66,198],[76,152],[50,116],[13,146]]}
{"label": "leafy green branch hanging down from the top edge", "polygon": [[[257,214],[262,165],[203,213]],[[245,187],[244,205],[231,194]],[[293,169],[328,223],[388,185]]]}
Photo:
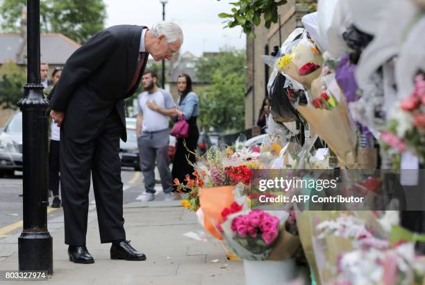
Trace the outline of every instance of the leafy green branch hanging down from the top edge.
{"label": "leafy green branch hanging down from the top edge", "polygon": [[287,0],[240,0],[231,3],[234,8],[231,13],[220,13],[220,18],[231,18],[226,21],[226,27],[233,28],[241,26],[244,33],[253,36],[253,27],[261,22],[261,15],[264,14],[265,27],[270,28],[272,23],[278,22],[278,6],[285,4]]}

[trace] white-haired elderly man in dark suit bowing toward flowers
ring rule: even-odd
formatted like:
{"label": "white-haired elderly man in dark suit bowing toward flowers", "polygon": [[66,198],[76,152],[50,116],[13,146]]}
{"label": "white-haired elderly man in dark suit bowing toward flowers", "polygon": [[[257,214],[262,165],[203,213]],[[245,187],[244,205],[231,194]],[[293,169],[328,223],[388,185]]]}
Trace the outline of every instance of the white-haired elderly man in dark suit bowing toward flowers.
{"label": "white-haired elderly man in dark suit bowing toward flowers", "polygon": [[183,33],[174,23],[120,25],[100,31],[69,57],[51,91],[60,128],[60,183],[69,260],[94,263],[85,246],[92,173],[101,243],[111,259],[145,260],[124,231],[119,138],[126,141],[124,99],[138,88],[149,54],[169,59]]}

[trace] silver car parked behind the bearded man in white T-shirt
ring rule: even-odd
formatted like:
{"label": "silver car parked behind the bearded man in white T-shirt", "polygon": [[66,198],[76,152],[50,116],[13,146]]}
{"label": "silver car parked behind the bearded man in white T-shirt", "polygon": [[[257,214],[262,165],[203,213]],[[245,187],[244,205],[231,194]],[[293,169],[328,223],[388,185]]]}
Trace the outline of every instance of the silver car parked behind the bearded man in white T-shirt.
{"label": "silver car parked behind the bearded man in white T-shirt", "polygon": [[[140,171],[140,158],[138,147],[138,136],[136,134],[136,119],[133,117],[126,118],[127,127],[127,141],[119,141],[119,157],[121,158],[121,165],[123,167],[134,168]],[[174,161],[174,154],[176,154],[176,138],[169,136],[168,156],[169,161]]]}

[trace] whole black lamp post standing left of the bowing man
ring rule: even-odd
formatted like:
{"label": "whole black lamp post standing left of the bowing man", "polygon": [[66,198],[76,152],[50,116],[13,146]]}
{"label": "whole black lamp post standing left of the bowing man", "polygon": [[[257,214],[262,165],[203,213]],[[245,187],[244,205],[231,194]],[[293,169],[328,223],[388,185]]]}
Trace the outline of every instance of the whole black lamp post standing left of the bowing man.
{"label": "whole black lamp post standing left of the bowing man", "polygon": [[19,270],[53,273],[53,240],[47,230],[47,123],[49,101],[40,84],[40,0],[27,1],[28,75],[22,111],[24,228],[18,238]]}

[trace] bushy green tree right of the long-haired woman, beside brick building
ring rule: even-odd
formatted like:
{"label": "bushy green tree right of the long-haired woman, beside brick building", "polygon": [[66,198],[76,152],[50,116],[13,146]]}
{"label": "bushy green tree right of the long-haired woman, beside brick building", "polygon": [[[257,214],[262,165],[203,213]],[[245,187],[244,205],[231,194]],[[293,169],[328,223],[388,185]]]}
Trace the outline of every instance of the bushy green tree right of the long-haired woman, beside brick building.
{"label": "bushy green tree right of the long-haired woman, beside brick building", "polygon": [[212,85],[199,94],[199,120],[208,130],[231,132],[244,129],[245,51],[221,51],[201,58],[197,77]]}

